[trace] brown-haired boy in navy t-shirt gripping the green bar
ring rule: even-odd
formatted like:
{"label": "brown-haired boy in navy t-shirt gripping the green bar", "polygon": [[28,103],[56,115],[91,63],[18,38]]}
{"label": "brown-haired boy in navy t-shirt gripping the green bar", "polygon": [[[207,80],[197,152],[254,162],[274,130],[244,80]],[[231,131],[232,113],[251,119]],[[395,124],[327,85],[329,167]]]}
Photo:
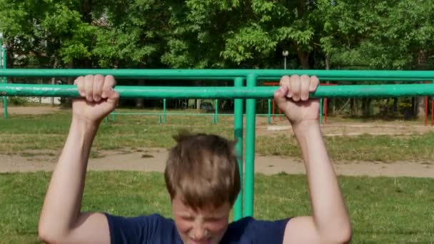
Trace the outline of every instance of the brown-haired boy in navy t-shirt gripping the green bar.
{"label": "brown-haired boy in navy t-shirt gripping the green bar", "polygon": [[[164,173],[173,220],[161,215],[123,218],[80,212],[86,166],[99,123],[116,107],[113,76],[76,79],[69,136],[51,178],[39,219],[46,243],[348,243],[350,220],[318,123],[319,103],[309,99],[315,76],[283,76],[274,97],[303,153],[312,216],[229,224],[240,191],[233,143],[213,135],[181,135]],[[291,190],[288,189],[288,193]]]}

